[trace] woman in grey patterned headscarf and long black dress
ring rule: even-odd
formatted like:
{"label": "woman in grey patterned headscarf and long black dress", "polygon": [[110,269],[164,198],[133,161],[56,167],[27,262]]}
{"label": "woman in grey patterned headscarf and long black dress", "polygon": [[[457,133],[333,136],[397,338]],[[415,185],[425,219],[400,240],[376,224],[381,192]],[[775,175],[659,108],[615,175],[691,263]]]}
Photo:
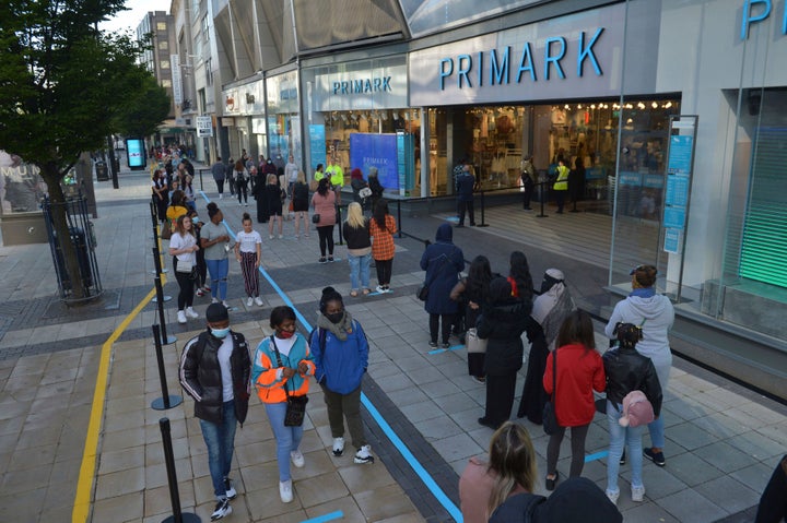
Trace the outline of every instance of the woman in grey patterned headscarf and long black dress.
{"label": "woman in grey patterned headscarf and long black dress", "polygon": [[541,384],[547,370],[547,356],[554,350],[557,332],[563,321],[574,310],[574,300],[565,285],[565,276],[557,269],[549,269],[541,282],[541,294],[533,301],[532,312],[527,324],[530,340],[528,370],[525,378],[517,417],[525,417],[541,425],[543,406],[548,396]]}

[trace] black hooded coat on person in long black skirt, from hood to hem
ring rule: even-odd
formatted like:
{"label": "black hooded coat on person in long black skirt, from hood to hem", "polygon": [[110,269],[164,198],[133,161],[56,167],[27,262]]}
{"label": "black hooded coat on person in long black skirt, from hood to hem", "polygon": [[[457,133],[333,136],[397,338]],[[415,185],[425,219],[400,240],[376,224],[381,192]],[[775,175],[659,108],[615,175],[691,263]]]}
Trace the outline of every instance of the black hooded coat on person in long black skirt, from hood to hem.
{"label": "black hooded coat on person in long black skirt, from hood to hem", "polygon": [[486,342],[484,371],[490,376],[513,375],[522,366],[521,333],[528,316],[520,299],[510,295],[510,284],[495,278],[490,284],[492,305],[478,319],[478,335]]}

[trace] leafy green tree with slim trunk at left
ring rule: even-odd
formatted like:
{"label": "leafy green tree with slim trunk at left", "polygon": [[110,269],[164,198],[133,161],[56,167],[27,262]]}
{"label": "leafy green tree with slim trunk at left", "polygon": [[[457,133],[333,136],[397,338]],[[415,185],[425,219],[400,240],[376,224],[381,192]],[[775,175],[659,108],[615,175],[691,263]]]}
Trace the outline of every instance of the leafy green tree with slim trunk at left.
{"label": "leafy green tree with slim trunk at left", "polygon": [[[60,181],[83,151],[113,132],[151,134],[166,92],[138,63],[143,45],[98,31],[125,0],[3,0],[0,5],[0,148],[40,167],[72,296],[84,297]],[[156,88],[157,87],[157,88]],[[145,96],[152,97],[145,98]],[[129,105],[150,104],[136,111]]]}

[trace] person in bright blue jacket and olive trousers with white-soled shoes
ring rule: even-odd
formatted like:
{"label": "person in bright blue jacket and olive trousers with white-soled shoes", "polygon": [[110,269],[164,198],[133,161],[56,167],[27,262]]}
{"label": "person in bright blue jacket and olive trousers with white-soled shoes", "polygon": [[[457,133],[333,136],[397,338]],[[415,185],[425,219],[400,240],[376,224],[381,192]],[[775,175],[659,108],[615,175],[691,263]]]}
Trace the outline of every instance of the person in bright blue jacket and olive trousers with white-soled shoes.
{"label": "person in bright blue jacket and olive trousers with white-soled shoes", "polygon": [[361,323],[344,310],[344,301],[333,287],[322,289],[317,329],[312,331],[309,347],[317,368],[315,377],[328,408],[333,455],[344,453],[346,419],[352,444],[357,449],[355,463],[374,463],[361,419],[361,381],[368,366],[368,342]]}

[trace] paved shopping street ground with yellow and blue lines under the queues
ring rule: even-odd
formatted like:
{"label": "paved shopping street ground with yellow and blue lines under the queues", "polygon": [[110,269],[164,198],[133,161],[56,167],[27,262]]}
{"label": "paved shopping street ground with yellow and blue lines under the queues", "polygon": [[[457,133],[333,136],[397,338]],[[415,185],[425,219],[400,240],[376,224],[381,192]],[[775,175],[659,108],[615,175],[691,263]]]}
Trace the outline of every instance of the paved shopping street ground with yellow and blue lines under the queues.
{"label": "paved shopping street ground with yellow and blue lines under the queues", "polygon": [[[153,236],[149,176],[122,171],[120,189],[96,182],[98,217],[95,251],[103,295],[69,307],[59,300],[48,245],[0,247],[0,503],[2,521],[160,522],[175,512],[168,488],[162,419],[167,418],[185,513],[210,521],[214,499],[204,443],[192,401],[165,411],[151,407],[163,396],[152,325]],[[240,228],[236,200],[218,200],[210,177],[198,210],[208,200],[224,212],[231,229]],[[512,205],[510,212],[518,212]],[[203,216],[201,216],[203,217]],[[207,217],[207,216],[205,216]],[[565,215],[580,221],[582,215]],[[530,217],[526,218],[530,219]],[[304,468],[294,468],[295,500],[279,500],[275,443],[261,404],[251,400],[247,423],[237,432],[231,476],[238,490],[226,521],[460,521],[458,476],[467,460],[483,455],[492,431],[479,426],[484,391],[467,375],[467,355],[458,343],[448,350],[427,346],[427,317],[414,297],[423,280],[418,262],[421,239],[433,238],[439,216],[406,216],[407,236],[397,239],[393,292],[351,298],[343,246],[334,263],[318,264],[317,235],[294,239],[285,222],[284,239],[263,237],[260,278],[266,306],[246,308],[239,268],[231,263],[233,329],[256,344],[270,333],[270,308],[292,304],[308,332],[322,287],[334,286],[361,321],[372,346],[364,381],[364,420],[377,457],[355,465],[352,454],[334,457],[321,394],[313,388],[302,450]],[[580,300],[606,295],[606,271],[569,254],[512,238],[510,230],[456,230],[466,259],[484,253],[493,270],[505,272],[510,251],[525,250],[536,280],[549,266],[572,277]],[[164,257],[165,260],[168,257]],[[168,261],[165,263],[169,265]],[[177,284],[166,282],[175,297]],[[375,282],[372,271],[373,285]],[[209,298],[196,298],[204,312]],[[162,347],[169,395],[183,396],[177,360],[201,320],[179,325],[175,301],[164,304],[166,330],[177,340]],[[602,325],[596,325],[600,332]],[[607,345],[598,334],[598,345]],[[526,350],[527,353],[527,350]],[[518,387],[524,383],[524,370]],[[177,403],[177,402],[175,402]],[[518,397],[517,397],[518,404]],[[645,501],[629,496],[630,472],[621,467],[619,508],[626,522],[752,521],[755,506],[778,457],[787,449],[787,407],[713,372],[676,358],[663,406],[667,465],[646,462]],[[548,438],[540,427],[517,420],[533,438],[539,476],[545,471]],[[602,488],[608,445],[606,417],[590,427],[584,476]],[[647,444],[647,437],[645,438]],[[564,441],[559,471],[568,471]],[[538,494],[548,494],[543,479]]]}

